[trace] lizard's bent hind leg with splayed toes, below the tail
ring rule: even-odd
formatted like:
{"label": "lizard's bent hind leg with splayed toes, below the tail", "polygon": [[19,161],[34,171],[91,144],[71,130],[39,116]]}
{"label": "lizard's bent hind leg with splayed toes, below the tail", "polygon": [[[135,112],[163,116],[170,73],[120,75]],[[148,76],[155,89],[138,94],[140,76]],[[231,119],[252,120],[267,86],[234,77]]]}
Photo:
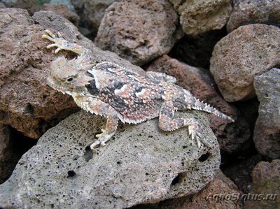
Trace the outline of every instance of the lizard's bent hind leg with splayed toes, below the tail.
{"label": "lizard's bent hind leg with splayed toes, below the tail", "polygon": [[201,132],[203,131],[202,127],[199,125],[197,120],[193,117],[186,119],[183,118],[174,118],[176,107],[172,101],[165,101],[162,103],[160,109],[160,118],[159,126],[163,131],[174,131],[180,129],[181,127],[188,127],[188,132],[192,140],[197,141],[197,147],[201,146],[201,141],[204,140]]}

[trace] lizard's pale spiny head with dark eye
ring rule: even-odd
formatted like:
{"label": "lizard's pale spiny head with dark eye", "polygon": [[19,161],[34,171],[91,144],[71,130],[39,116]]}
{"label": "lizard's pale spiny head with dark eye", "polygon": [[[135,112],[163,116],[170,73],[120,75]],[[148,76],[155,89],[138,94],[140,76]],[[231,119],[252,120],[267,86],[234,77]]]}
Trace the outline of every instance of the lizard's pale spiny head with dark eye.
{"label": "lizard's pale spiny head with dark eye", "polygon": [[92,65],[83,64],[79,59],[68,60],[58,57],[50,64],[47,83],[50,87],[66,94],[83,94],[85,85],[94,79],[85,73]]}

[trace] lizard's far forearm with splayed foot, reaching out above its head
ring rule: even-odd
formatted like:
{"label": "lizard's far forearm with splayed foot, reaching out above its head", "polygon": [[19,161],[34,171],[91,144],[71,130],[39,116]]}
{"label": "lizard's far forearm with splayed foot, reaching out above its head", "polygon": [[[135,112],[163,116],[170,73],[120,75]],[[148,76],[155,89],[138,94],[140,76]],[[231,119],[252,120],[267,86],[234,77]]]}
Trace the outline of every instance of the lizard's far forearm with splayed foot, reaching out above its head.
{"label": "lizard's far forearm with splayed foot, reaching out above its head", "polygon": [[52,34],[51,31],[45,30],[45,33],[42,38],[48,39],[49,41],[53,42],[52,44],[48,45],[47,48],[54,48],[57,47],[55,50],[55,54],[57,54],[60,50],[69,50],[71,52],[75,52],[78,55],[82,55],[89,50],[87,48],[84,48],[81,45],[78,45],[76,43],[71,43],[69,41],[66,41],[64,38],[62,38],[62,35],[58,32],[57,36],[55,34]]}

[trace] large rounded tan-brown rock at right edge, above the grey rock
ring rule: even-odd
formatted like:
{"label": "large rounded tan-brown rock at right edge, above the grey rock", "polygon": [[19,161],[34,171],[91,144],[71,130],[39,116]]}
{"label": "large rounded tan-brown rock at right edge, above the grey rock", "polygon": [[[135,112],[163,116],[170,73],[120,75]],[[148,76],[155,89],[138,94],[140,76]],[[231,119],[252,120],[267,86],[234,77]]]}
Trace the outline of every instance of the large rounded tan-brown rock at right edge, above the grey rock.
{"label": "large rounded tan-brown rock at right edge, above the grey rock", "polygon": [[219,41],[210,59],[210,71],[227,101],[255,96],[253,78],[280,64],[280,29],[248,24]]}

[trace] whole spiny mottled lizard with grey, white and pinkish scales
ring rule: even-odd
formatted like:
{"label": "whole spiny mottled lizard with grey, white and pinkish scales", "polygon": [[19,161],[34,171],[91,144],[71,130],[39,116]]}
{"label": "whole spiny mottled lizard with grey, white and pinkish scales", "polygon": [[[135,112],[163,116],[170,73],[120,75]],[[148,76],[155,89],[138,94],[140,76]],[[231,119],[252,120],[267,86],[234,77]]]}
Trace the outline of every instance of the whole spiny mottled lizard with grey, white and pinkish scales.
{"label": "whole spiny mottled lizard with grey, white and pinkish scales", "polygon": [[214,113],[233,122],[232,118],[206,103],[195,99],[186,89],[175,85],[176,79],[165,73],[147,72],[146,77],[117,64],[90,63],[91,51],[75,43],[69,43],[58,34],[46,30],[46,38],[53,43],[47,48],[76,52],[76,59],[58,57],[50,66],[48,85],[73,96],[80,108],[107,118],[106,128],[90,146],[105,145],[118,127],[118,120],[138,124],[159,117],[160,129],[173,131],[188,127],[192,139],[200,147],[205,140],[202,127],[190,118],[174,118],[176,110],[195,109]]}

